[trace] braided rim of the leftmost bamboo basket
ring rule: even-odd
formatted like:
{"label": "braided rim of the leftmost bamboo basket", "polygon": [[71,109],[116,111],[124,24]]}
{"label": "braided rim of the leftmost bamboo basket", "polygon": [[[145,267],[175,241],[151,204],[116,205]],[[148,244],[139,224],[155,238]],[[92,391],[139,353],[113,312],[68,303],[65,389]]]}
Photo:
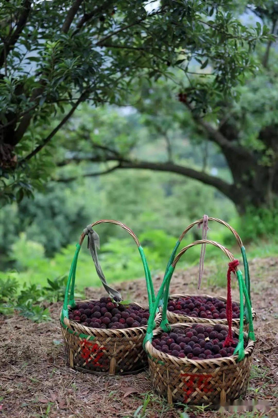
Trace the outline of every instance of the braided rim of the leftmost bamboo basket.
{"label": "braided rim of the leftmost bamboo basket", "polygon": [[[86,299],[86,300],[77,301],[77,302],[78,303],[82,303],[82,302],[86,303],[86,302],[93,302],[93,301],[98,301],[98,299]],[[144,305],[144,304],[141,304],[141,303],[138,303],[138,302],[131,301],[129,303],[129,305],[131,305],[131,304],[140,306],[141,308],[144,308],[144,309],[148,309],[148,305]],[[68,305],[68,308],[71,308],[71,306]],[[68,318],[64,318],[64,321],[63,321],[62,320],[62,311],[63,311],[63,308],[60,311],[60,322],[61,322],[61,324],[64,323],[64,325],[67,326],[67,328],[69,328],[71,331],[76,331],[76,332],[79,332],[80,334],[87,334],[88,336],[95,336],[94,334],[103,334],[103,333],[106,334],[107,336],[109,336],[109,334],[110,335],[112,334],[113,336],[119,336],[118,334],[120,333],[120,334],[122,334],[122,336],[128,337],[128,335],[126,335],[126,332],[130,333],[130,332],[134,331],[136,333],[136,331],[139,331],[139,332],[142,332],[142,333],[145,334],[145,332],[147,331],[147,328],[148,328],[148,324],[143,325],[143,326],[135,326],[135,327],[130,327],[130,328],[124,328],[124,329],[93,328],[93,327],[90,327],[90,326],[84,326],[84,325],[81,325],[81,324],[77,324],[75,321],[73,321],[71,319],[68,319]],[[161,320],[161,314],[160,314],[160,312],[158,312],[155,316],[155,323],[156,324],[160,323],[160,320]]]}

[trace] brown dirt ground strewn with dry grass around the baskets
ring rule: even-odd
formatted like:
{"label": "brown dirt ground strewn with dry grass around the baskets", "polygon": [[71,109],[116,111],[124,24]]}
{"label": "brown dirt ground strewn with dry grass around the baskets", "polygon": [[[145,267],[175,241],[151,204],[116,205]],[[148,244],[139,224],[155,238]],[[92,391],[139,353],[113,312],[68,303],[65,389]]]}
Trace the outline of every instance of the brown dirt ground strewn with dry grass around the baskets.
{"label": "brown dirt ground strewn with dry grass around the baskets", "polygon": [[[206,275],[212,273],[209,267],[205,269],[199,293],[225,296],[224,288],[205,287]],[[71,370],[65,365],[58,319],[61,303],[56,303],[50,306],[52,322],[34,324],[20,316],[0,316],[0,418],[278,417],[278,258],[252,260],[250,273],[257,319],[247,398],[267,401],[267,413],[173,408],[152,390],[147,371],[102,377]],[[197,293],[197,278],[197,267],[176,272],[171,293]],[[161,280],[162,275],[154,277],[156,290]],[[117,283],[115,287],[127,298],[146,301],[144,280]],[[87,289],[86,296],[100,297],[100,292],[100,288]],[[238,298],[236,288],[232,296]]]}

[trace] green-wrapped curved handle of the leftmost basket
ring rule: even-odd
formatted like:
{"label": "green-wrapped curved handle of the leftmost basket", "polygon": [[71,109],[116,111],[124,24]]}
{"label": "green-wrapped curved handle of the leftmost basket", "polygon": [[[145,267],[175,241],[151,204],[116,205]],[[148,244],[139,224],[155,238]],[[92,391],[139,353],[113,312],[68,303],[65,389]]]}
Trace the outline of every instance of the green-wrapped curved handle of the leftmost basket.
{"label": "green-wrapped curved handle of the leftmost basket", "polygon": [[[127,227],[122,222],[114,221],[113,219],[100,219],[99,221],[94,222],[93,224],[91,224],[91,227],[94,227],[95,225],[103,224],[103,223],[110,223],[110,224],[118,225],[118,226],[122,227],[123,229],[125,229],[131,235],[131,237],[133,237],[133,240],[135,241],[135,243],[138,247],[138,250],[140,252],[140,256],[141,256],[141,259],[142,259],[142,262],[143,262],[146,284],[147,284],[147,291],[148,291],[148,301],[149,301],[149,306],[150,306],[150,309],[151,309],[152,306],[153,306],[153,303],[155,301],[153,281],[152,281],[152,278],[151,278],[151,275],[150,275],[150,270],[148,268],[148,263],[147,263],[143,248],[140,246],[140,242],[139,242],[138,238],[136,237],[134,232],[129,227]],[[80,239],[79,239],[79,242],[78,242],[78,244],[76,244],[75,255],[74,255],[73,261],[71,263],[70,273],[68,275],[68,281],[67,281],[67,285],[66,285],[66,289],[65,289],[65,298],[64,298],[64,303],[63,303],[62,319],[65,318],[65,317],[68,318],[68,292],[69,292],[69,289],[70,289],[70,282],[71,282],[71,289],[70,289],[69,304],[72,307],[75,306],[74,287],[75,287],[76,265],[77,265],[77,260],[78,260],[78,254],[79,254],[81,245],[82,245],[85,237],[86,237],[86,235],[84,234],[84,232],[82,232],[82,234],[80,236]]]}

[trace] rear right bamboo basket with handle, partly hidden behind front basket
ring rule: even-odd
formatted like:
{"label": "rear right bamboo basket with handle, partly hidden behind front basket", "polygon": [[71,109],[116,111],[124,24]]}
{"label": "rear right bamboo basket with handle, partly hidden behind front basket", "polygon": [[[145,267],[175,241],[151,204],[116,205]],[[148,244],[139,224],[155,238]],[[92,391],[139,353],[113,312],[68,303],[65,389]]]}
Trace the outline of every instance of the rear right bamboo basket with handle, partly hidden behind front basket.
{"label": "rear right bamboo basket with handle, partly hidden behind front basket", "polygon": [[[250,296],[250,273],[249,273],[249,267],[248,267],[248,261],[247,261],[247,257],[246,257],[246,252],[245,252],[245,248],[243,246],[242,240],[240,239],[240,236],[238,235],[238,233],[235,231],[235,229],[233,229],[233,227],[231,227],[229,224],[227,224],[227,222],[222,221],[221,219],[217,219],[217,218],[208,218],[209,221],[215,221],[218,222],[222,225],[224,225],[225,227],[227,227],[230,232],[232,232],[232,234],[235,237],[235,240],[240,248],[240,251],[242,253],[242,257],[243,257],[243,266],[244,266],[244,276],[245,276],[245,286],[247,288],[248,291],[248,297],[249,297],[249,301],[251,303],[251,296]],[[188,225],[188,227],[183,231],[183,233],[180,235],[175,248],[171,254],[170,260],[168,262],[167,268],[166,268],[166,272],[170,266],[170,264],[173,262],[176,251],[180,245],[180,242],[183,240],[183,238],[185,237],[185,234],[187,234],[187,232],[193,228],[195,225],[199,225],[203,222],[203,219],[198,219],[197,221],[193,222],[192,224]],[[169,287],[168,287],[169,288]],[[169,300],[174,300],[174,299],[178,299],[178,298],[186,298],[187,296],[197,296],[194,294],[173,294],[169,296]],[[216,297],[218,298],[220,301],[226,302],[227,299],[223,298],[222,296],[211,296],[211,295],[203,295],[200,294],[198,296],[204,296],[204,297]],[[238,301],[236,301],[236,303],[239,304]],[[251,304],[252,306],[252,304]],[[162,306],[159,307],[159,311],[162,312]],[[256,316],[255,310],[252,308],[252,319],[254,320]],[[200,323],[200,324],[205,324],[205,323],[209,323],[209,324],[221,324],[221,325],[227,325],[227,319],[207,319],[207,318],[194,318],[192,316],[186,315],[186,314],[176,314],[173,313],[171,311],[167,310],[167,319],[169,321],[170,324],[177,324],[178,322],[192,322],[192,323]],[[248,311],[247,311],[247,307],[245,306],[244,308],[244,331],[248,331],[249,329],[249,319],[248,319]],[[232,326],[238,328],[239,327],[239,318],[233,319],[233,323]]]}

